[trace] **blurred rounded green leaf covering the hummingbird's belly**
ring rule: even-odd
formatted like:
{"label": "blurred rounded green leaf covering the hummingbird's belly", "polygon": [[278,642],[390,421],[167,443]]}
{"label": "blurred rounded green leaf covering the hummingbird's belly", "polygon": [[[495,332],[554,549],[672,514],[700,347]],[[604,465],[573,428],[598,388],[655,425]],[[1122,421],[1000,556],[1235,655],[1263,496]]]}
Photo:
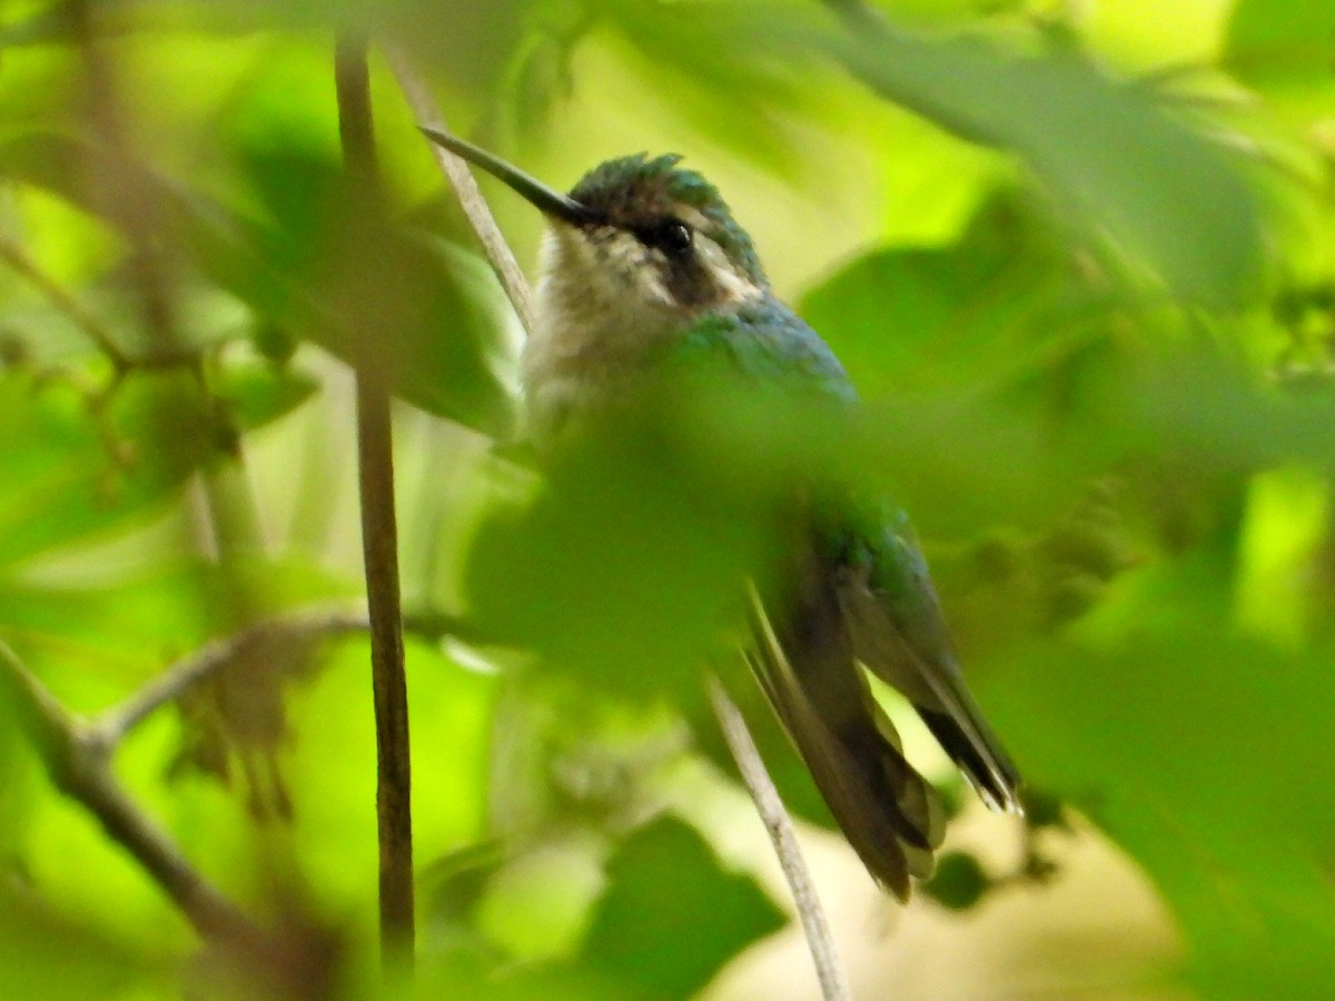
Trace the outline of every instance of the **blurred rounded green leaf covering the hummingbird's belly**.
{"label": "blurred rounded green leaf covering the hummingbird's belly", "polygon": [[483,525],[473,611],[498,642],[609,691],[697,699],[702,663],[741,622],[742,582],[768,569],[774,513],[724,455],[635,435],[589,446]]}

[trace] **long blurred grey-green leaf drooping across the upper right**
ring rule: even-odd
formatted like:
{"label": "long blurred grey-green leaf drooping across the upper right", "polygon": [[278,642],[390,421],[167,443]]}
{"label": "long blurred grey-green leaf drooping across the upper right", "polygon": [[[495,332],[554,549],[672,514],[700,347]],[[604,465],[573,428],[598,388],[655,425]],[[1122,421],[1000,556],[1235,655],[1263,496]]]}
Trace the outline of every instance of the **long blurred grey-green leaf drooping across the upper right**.
{"label": "long blurred grey-green leaf drooping across the upper right", "polygon": [[889,100],[1019,153],[1080,218],[1189,299],[1236,308],[1259,290],[1255,199],[1224,149],[1071,48],[926,39],[874,17],[836,29],[790,7],[692,7],[720,11],[708,16],[737,40],[738,57],[830,55]]}

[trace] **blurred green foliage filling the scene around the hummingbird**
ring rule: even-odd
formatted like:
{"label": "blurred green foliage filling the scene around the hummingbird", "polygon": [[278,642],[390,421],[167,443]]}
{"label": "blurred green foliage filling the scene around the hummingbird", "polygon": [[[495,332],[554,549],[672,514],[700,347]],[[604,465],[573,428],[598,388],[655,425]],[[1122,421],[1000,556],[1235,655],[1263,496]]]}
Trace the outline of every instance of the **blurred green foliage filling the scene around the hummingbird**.
{"label": "blurred green foliage filling the scene around the hummingbird", "polygon": [[[829,826],[720,651],[792,471],[860,479],[912,514],[1035,787],[1019,872],[955,852],[928,893],[1060,880],[1033,840],[1079,814],[1180,925],[1179,985],[1327,994],[1335,8],[1093,7],[5,0],[0,639],[95,713],[355,599],[346,363],[383,366],[405,593],[470,643],[409,650],[413,992],[688,997],[784,921],[678,809],[732,767],[700,667]],[[689,153],[862,412],[705,391],[547,480],[513,466],[515,320],[378,63],[383,203],[344,178],[350,28],[553,183]],[[5,997],[380,992],[364,645],[251,653],[116,771],[271,948],[202,950],[4,702]]]}

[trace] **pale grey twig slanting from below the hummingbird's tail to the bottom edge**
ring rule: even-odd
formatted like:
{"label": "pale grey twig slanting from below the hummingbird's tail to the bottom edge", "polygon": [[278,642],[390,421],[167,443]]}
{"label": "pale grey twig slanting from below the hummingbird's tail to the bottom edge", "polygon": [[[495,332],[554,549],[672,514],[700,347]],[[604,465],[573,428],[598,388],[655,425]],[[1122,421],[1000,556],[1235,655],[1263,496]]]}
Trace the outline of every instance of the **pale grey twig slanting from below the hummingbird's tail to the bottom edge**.
{"label": "pale grey twig slanting from below the hummingbird's tail to the bottom edge", "polygon": [[797,905],[797,913],[802,920],[802,932],[806,934],[806,944],[812,950],[812,958],[816,961],[816,976],[821,984],[821,997],[825,1001],[850,1001],[853,994],[848,988],[848,977],[844,973],[844,965],[840,962],[838,952],[834,948],[834,938],[830,936],[825,910],[821,908],[820,897],[816,894],[812,874],[797,844],[793,822],[788,817],[788,810],[784,809],[784,801],[780,798],[773,779],[770,779],[769,773],[765,770],[765,762],[761,761],[760,751],[756,749],[756,741],[752,739],[750,730],[746,729],[746,721],[742,718],[741,710],[737,709],[736,703],[728,697],[728,693],[724,691],[724,686],[718,682],[718,678],[709,675],[706,681],[709,701],[714,707],[714,715],[718,718],[718,726],[724,731],[724,739],[728,741],[728,749],[737,762],[737,770],[741,773],[742,782],[746,783],[746,789],[750,791],[752,801],[756,803],[756,811],[765,825],[765,833],[769,834],[770,844],[774,846],[774,854],[778,856],[778,864],[784,869],[784,878],[788,880],[788,886],[793,893],[793,902]]}

